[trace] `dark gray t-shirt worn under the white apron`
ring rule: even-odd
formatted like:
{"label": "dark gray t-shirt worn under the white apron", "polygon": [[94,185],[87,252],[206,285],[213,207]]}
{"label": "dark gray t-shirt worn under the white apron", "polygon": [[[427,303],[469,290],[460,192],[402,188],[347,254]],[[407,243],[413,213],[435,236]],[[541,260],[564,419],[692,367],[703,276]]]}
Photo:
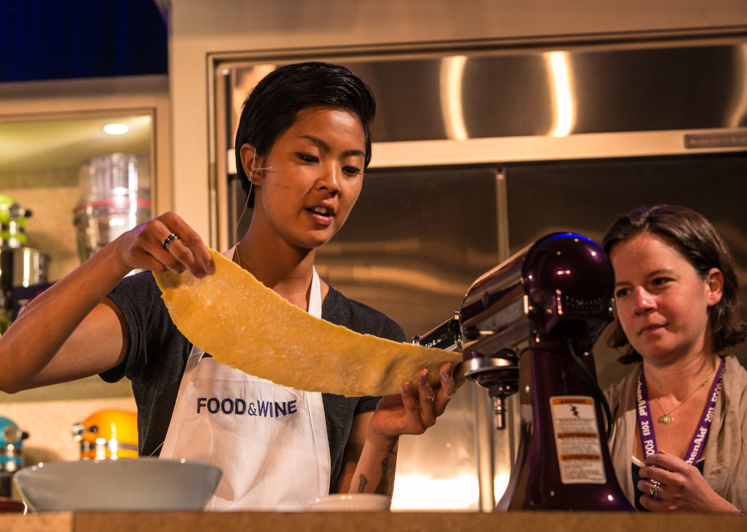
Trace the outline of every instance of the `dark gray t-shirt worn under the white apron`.
{"label": "dark gray t-shirt worn under the white apron", "polygon": [[[107,382],[123,377],[132,381],[137,403],[140,455],[158,456],[166,439],[171,413],[192,344],[171,321],[161,290],[150,272],[124,278],[108,296],[122,310],[130,329],[130,350],[119,366],[101,374]],[[206,320],[210,316],[205,316]],[[250,319],[247,316],[247,319]],[[378,310],[346,298],[329,287],[322,304],[322,319],[361,334],[373,334],[403,342],[405,334],[396,322]],[[230,334],[230,331],[226,331]],[[330,492],[338,483],[342,457],[353,428],[353,417],[373,410],[379,397],[346,398],[322,394],[331,463]]]}

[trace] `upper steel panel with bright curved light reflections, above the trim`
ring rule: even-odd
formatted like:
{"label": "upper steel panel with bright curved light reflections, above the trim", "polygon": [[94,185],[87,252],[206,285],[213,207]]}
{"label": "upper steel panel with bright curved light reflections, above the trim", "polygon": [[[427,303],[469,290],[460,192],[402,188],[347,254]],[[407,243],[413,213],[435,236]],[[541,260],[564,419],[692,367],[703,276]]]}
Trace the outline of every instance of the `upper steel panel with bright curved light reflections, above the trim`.
{"label": "upper steel panel with bright curved light reflections, above the trim", "polygon": [[[747,125],[746,43],[335,61],[376,95],[377,143],[564,136]],[[235,78],[252,69],[235,67]],[[454,113],[461,137],[450,133]]]}

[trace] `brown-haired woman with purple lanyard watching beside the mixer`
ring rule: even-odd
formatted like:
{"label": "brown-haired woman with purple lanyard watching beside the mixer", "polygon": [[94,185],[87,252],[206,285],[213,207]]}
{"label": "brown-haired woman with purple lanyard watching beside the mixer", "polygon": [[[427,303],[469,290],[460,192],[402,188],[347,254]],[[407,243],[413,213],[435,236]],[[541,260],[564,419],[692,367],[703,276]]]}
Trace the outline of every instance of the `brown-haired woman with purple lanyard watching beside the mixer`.
{"label": "brown-haired woman with purple lanyard watching beside the mixer", "polygon": [[607,391],[610,453],[639,510],[747,507],[747,371],[725,349],[747,337],[725,242],[685,207],[634,210],[602,245],[615,269],[616,327],[633,371]]}

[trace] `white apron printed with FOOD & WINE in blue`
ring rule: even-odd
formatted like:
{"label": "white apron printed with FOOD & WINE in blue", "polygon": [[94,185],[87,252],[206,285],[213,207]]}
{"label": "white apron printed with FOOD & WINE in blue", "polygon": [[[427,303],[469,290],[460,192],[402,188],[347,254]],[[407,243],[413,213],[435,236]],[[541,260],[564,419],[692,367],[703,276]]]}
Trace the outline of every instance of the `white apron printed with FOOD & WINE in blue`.
{"label": "white apron printed with FOOD & WINE in blue", "polygon": [[[314,270],[309,313],[320,318],[321,311]],[[247,375],[193,347],[161,458],[223,469],[205,510],[301,510],[329,492],[322,395]]]}

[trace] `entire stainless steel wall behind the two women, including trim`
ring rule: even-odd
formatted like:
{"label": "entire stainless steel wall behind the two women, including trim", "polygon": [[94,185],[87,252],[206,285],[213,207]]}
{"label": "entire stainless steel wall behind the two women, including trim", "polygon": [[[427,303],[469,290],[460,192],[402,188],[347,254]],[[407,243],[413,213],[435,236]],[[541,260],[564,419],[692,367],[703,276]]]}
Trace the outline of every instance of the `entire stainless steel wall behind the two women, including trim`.
{"label": "entire stainless steel wall behind the two women, including trim", "polygon": [[[291,60],[226,63],[232,114],[253,83]],[[317,251],[317,271],[400,322],[408,337],[450,317],[471,282],[508,256],[509,243],[515,251],[559,230],[598,239],[639,204],[700,210],[747,278],[739,203],[747,158],[736,153],[747,150],[747,38],[331,60],[366,81],[378,105],[359,204]],[[703,155],[718,151],[735,153]],[[243,193],[233,193],[231,219],[244,206]],[[595,349],[603,387],[627,372],[602,342]],[[489,410],[485,390],[465,385],[436,427],[401,439],[394,508],[491,507],[509,475],[518,416],[495,432]]]}

